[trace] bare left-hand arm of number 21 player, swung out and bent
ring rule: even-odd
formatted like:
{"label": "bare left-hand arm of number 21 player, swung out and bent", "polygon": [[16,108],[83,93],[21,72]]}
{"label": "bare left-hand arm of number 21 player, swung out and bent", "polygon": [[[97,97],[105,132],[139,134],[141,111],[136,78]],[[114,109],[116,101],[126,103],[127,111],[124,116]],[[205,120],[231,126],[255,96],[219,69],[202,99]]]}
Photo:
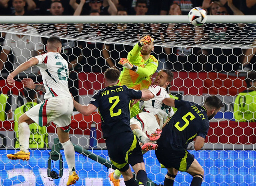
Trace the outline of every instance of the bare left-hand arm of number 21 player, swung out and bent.
{"label": "bare left-hand arm of number 21 player, swung out and bent", "polygon": [[37,58],[31,58],[28,61],[22,63],[20,66],[18,66],[12,73],[9,74],[7,77],[7,83],[11,86],[14,86],[14,77],[18,75],[20,72],[23,72],[24,70],[28,69],[31,66],[35,66],[38,64]]}

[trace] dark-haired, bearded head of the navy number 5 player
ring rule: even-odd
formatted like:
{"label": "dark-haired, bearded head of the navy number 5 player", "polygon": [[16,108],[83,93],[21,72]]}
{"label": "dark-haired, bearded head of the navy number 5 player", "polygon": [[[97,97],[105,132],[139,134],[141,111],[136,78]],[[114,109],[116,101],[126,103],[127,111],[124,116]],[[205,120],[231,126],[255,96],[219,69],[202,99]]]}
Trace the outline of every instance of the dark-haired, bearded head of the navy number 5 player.
{"label": "dark-haired, bearded head of the navy number 5 player", "polygon": [[220,111],[224,104],[217,96],[208,96],[204,102],[208,119],[212,119]]}

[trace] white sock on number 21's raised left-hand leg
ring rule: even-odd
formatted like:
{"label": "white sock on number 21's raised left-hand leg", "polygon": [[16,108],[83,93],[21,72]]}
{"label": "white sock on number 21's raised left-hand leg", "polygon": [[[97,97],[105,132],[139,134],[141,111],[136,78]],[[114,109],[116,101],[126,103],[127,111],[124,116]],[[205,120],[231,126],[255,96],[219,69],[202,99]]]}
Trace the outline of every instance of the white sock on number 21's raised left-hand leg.
{"label": "white sock on number 21's raised left-hand leg", "polygon": [[26,122],[22,122],[18,125],[18,134],[20,140],[20,150],[28,153],[30,130]]}

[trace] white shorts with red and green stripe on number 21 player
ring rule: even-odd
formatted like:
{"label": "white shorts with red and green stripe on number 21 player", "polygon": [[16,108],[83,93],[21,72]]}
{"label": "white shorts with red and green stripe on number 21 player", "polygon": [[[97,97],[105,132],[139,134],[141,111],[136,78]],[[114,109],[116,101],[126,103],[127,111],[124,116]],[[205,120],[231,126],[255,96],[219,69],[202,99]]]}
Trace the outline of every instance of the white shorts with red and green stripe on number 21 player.
{"label": "white shorts with red and green stripe on number 21 player", "polygon": [[25,114],[41,127],[54,122],[57,127],[69,132],[73,109],[74,104],[71,98],[57,96],[33,106]]}

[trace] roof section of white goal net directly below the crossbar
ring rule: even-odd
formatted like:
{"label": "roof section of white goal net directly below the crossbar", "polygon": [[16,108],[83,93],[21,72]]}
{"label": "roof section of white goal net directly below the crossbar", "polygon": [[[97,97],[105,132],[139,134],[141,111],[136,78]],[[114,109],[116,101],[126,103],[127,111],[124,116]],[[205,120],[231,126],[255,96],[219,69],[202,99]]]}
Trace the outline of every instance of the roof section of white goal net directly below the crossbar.
{"label": "roof section of white goal net directly below the crossbar", "polygon": [[[135,44],[138,36],[151,32],[155,46],[201,48],[254,47],[255,24],[0,24],[1,32],[38,37],[109,44]],[[98,33],[98,35],[94,34]]]}

